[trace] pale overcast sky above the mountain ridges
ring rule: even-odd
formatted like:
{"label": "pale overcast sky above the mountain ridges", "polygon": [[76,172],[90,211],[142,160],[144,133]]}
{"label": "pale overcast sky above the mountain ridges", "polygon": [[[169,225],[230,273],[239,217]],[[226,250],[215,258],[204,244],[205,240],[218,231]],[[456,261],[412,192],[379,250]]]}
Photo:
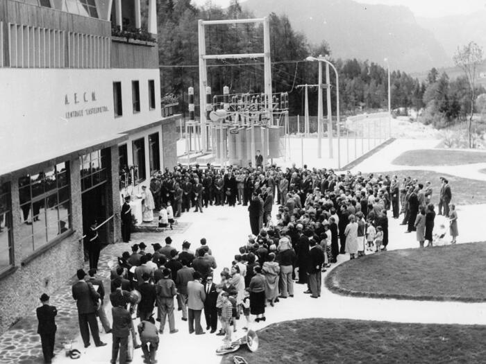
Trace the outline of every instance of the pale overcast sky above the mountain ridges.
{"label": "pale overcast sky above the mountain ridges", "polygon": [[[206,0],[192,0],[203,5]],[[211,0],[220,6],[228,6],[230,0]],[[262,0],[268,1],[268,0]],[[319,0],[315,0],[319,1]],[[486,0],[355,0],[359,3],[383,3],[387,5],[408,6],[417,17],[442,17],[459,13],[469,13],[480,9],[486,10]],[[243,3],[240,0],[240,3]]]}

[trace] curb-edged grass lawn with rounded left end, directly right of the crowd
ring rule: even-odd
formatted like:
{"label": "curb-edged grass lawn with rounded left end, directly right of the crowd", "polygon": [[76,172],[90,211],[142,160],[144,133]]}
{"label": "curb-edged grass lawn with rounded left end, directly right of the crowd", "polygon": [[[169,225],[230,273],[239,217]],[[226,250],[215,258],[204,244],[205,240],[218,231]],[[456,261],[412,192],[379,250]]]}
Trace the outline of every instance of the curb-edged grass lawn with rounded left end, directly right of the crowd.
{"label": "curb-edged grass lawn with rounded left end, directly right of the crowd", "polygon": [[335,293],[404,300],[486,302],[485,243],[371,254],[326,277]]}

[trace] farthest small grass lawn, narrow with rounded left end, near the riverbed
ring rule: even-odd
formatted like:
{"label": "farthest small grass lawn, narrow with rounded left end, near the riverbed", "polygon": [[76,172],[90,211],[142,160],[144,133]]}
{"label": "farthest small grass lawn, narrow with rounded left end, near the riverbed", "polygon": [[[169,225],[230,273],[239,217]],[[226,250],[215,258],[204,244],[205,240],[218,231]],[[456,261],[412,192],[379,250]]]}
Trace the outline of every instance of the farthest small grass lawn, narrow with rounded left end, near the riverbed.
{"label": "farthest small grass lawn, narrow with rounded left end, near the riverbed", "polygon": [[486,152],[467,150],[408,150],[396,157],[392,164],[399,166],[457,166],[486,162]]}

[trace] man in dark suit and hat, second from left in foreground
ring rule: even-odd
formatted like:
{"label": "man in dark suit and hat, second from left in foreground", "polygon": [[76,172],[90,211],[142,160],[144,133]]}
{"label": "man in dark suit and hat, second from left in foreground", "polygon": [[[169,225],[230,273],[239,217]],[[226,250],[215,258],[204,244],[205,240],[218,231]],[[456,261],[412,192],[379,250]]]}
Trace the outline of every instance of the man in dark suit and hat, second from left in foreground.
{"label": "man in dark suit and hat, second from left in foreground", "polygon": [[[81,331],[81,338],[83,338],[83,343],[85,347],[90,346],[90,330],[93,336],[94,345],[97,347],[104,346],[99,339],[99,329],[97,321],[97,306],[95,302],[99,300],[99,294],[94,291],[92,284],[85,281],[86,272],[79,269],[76,272],[79,281],[77,281],[72,286],[72,295],[74,300],[76,300],[76,306],[78,306],[78,320],[79,320],[79,330]],[[88,329],[89,325],[89,329]]]}

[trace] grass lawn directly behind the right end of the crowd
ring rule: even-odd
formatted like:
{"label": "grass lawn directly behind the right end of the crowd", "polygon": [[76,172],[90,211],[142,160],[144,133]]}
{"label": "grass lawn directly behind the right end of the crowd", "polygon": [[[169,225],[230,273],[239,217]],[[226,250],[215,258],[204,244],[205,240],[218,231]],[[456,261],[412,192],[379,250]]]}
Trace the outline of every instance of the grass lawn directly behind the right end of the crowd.
{"label": "grass lawn directly behind the right end of the crowd", "polygon": [[[448,175],[445,173],[437,173],[432,171],[387,171],[377,172],[375,175],[383,174],[397,175],[401,182],[404,177],[417,178],[420,183],[425,184],[426,181],[432,183],[433,193],[432,202],[434,205],[439,203],[440,192],[440,180],[439,177],[443,176],[449,180],[449,185],[452,191],[451,203],[455,205],[474,205],[486,203],[486,183],[484,181],[470,180],[469,178],[462,178],[455,175]],[[437,208],[435,209],[437,212]]]}

